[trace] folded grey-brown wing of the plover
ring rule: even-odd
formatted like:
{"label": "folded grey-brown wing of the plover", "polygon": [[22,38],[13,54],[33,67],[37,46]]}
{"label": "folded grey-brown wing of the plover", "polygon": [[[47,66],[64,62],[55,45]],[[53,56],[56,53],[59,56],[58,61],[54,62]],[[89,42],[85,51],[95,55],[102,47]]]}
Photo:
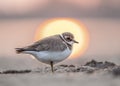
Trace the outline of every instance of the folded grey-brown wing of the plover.
{"label": "folded grey-brown wing of the plover", "polygon": [[26,51],[63,51],[66,45],[59,36],[52,36],[35,42],[33,45],[27,46]]}

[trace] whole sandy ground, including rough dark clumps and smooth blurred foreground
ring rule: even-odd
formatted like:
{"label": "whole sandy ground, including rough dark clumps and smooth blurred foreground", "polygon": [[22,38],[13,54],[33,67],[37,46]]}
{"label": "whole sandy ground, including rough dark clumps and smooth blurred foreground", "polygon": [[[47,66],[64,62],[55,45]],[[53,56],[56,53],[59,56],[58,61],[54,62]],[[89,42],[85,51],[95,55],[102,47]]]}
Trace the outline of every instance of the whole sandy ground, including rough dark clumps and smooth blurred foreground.
{"label": "whole sandy ground, including rough dark clumps and smooth blurred foreground", "polygon": [[35,69],[1,69],[0,86],[120,86],[120,66],[112,62],[57,65]]}

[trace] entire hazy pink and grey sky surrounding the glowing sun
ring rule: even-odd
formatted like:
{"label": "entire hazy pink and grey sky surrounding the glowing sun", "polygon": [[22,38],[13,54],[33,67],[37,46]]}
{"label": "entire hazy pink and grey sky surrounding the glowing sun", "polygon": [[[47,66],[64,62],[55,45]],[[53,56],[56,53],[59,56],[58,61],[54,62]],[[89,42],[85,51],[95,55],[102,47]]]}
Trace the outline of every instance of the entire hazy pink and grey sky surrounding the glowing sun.
{"label": "entire hazy pink and grey sky surrounding the glowing sun", "polygon": [[[28,4],[29,3],[29,4]],[[72,17],[88,29],[88,55],[119,55],[119,0],[0,0],[0,56],[32,44],[42,21]]]}

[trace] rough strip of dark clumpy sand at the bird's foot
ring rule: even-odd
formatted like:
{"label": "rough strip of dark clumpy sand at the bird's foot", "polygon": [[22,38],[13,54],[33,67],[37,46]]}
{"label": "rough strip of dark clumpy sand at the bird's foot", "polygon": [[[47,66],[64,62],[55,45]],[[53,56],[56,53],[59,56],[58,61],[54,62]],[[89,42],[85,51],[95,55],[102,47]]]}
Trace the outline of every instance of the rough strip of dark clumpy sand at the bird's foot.
{"label": "rough strip of dark clumpy sand at the bird's foot", "polygon": [[[91,60],[87,62],[85,65],[82,66],[75,66],[75,65],[58,65],[54,67],[55,73],[87,73],[87,74],[94,74],[94,73],[108,73],[114,76],[120,76],[120,66],[116,65],[112,62],[97,62],[95,60]],[[25,74],[25,73],[51,73],[50,67],[38,68],[35,70],[26,69],[26,70],[5,70],[0,71],[0,74]]]}

